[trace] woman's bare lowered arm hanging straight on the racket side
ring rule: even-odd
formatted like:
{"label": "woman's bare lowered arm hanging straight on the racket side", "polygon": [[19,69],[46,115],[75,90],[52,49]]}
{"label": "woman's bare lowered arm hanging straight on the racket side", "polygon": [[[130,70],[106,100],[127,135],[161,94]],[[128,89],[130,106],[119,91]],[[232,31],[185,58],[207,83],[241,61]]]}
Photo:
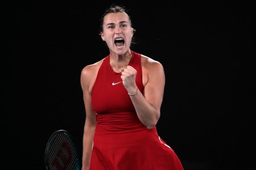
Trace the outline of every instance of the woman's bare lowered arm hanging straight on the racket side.
{"label": "woman's bare lowered arm hanging straight on the racket side", "polygon": [[83,90],[84,106],[86,119],[84,124],[83,135],[83,155],[82,155],[82,170],[90,169],[90,160],[93,147],[93,137],[96,127],[95,112],[91,104],[91,84],[92,74],[90,67],[85,67],[81,72],[81,87]]}

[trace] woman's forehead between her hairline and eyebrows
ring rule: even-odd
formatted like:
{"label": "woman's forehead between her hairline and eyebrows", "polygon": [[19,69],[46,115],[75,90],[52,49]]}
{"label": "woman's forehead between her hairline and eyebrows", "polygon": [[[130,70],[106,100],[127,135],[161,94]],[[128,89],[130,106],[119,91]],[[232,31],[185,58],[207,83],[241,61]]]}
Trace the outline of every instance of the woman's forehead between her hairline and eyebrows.
{"label": "woman's forehead between her hairline and eyebrows", "polygon": [[128,14],[125,12],[109,13],[104,17],[104,25],[108,23],[119,23],[120,21],[126,21],[129,23]]}

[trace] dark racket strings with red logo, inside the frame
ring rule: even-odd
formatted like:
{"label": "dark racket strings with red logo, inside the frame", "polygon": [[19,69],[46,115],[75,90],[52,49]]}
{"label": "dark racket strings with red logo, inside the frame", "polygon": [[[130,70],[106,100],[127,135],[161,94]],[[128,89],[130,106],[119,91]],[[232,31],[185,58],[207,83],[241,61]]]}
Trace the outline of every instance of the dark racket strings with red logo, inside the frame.
{"label": "dark racket strings with red logo, inside the frame", "polygon": [[50,170],[76,170],[76,148],[66,134],[57,134],[49,148]]}

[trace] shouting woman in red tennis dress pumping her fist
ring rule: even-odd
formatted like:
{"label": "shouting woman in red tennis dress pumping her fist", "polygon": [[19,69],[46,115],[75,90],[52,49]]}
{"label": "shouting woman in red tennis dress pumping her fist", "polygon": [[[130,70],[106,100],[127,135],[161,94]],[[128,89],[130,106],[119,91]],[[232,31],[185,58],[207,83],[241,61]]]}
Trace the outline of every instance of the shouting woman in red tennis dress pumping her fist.
{"label": "shouting woman in red tennis dress pumping her fist", "polygon": [[155,127],[163,66],[131,51],[133,34],[122,7],[106,10],[100,35],[110,55],[81,72],[86,110],[82,170],[183,170]]}

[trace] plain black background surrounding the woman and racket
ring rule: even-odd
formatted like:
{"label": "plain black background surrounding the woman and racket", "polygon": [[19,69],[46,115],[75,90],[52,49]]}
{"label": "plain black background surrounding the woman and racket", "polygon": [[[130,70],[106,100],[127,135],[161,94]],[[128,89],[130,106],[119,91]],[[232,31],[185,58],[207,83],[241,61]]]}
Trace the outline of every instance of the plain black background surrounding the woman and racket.
{"label": "plain black background surrounding the woman and racket", "polygon": [[131,49],[163,64],[157,131],[184,169],[255,169],[254,9],[225,1],[3,4],[1,169],[45,170],[47,141],[60,129],[82,150],[80,73],[109,54],[98,33],[111,3],[129,10]]}

